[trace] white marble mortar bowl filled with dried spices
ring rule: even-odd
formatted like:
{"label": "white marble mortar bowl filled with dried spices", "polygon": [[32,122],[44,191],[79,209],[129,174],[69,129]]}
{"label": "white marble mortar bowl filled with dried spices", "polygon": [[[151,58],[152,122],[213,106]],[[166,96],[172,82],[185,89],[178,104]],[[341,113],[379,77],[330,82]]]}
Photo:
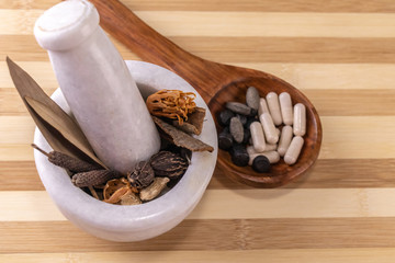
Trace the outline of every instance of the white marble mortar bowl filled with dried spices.
{"label": "white marble mortar bowl filled with dried spices", "polygon": [[[64,169],[49,163],[38,151],[34,152],[40,178],[64,216],[95,237],[124,242],[154,238],[181,222],[201,199],[217,159],[216,128],[199,93],[185,80],[159,66],[142,61],[126,61],[126,65],[143,96],[161,89],[194,92],[196,104],[206,108],[206,121],[199,138],[213,146],[214,152],[194,152],[191,165],[172,190],[157,199],[136,206],[112,205],[91,197],[71,183]],[[59,89],[52,98],[70,114]],[[46,151],[52,150],[38,128],[34,134],[34,144]]]}

